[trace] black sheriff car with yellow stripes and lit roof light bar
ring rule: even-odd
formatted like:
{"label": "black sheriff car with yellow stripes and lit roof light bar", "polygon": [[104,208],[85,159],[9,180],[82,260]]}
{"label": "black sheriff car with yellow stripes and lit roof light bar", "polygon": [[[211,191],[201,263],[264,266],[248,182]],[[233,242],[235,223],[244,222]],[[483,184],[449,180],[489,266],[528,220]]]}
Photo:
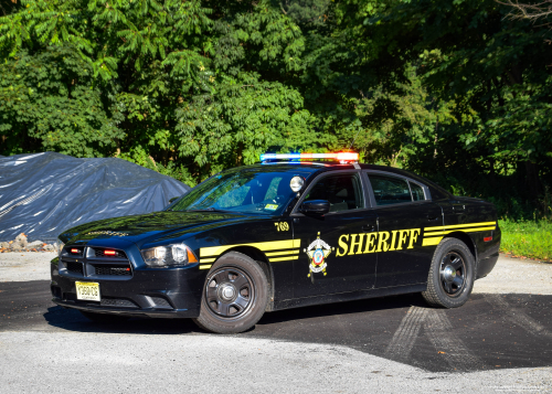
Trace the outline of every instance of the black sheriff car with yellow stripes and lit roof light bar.
{"label": "black sheriff car with yellow stripes and lit roof light bar", "polygon": [[399,294],[459,307],[498,259],[491,203],[352,152],[261,159],[162,212],[61,234],[53,301],[96,321],[192,318],[231,333],[265,311]]}

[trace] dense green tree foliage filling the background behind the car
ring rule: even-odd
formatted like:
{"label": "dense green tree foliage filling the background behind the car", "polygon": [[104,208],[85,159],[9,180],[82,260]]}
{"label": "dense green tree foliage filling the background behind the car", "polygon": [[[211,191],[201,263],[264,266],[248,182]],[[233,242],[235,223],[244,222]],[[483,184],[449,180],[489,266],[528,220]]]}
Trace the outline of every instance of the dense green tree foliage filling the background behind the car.
{"label": "dense green tree foliage filling the background behind the car", "polygon": [[4,1],[0,153],[116,156],[194,184],[262,151],[353,149],[503,215],[546,215],[552,31],[512,10]]}

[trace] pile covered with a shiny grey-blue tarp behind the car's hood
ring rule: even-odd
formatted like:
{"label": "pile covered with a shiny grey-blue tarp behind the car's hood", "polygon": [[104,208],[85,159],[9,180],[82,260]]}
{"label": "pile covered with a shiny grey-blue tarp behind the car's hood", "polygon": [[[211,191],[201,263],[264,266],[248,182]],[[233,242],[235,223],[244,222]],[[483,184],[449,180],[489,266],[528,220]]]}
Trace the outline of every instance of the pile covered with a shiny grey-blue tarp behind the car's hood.
{"label": "pile covered with a shiny grey-blue tarp behind the car's hood", "polygon": [[0,241],[55,239],[100,219],[160,211],[190,187],[126,160],[45,152],[0,158]]}

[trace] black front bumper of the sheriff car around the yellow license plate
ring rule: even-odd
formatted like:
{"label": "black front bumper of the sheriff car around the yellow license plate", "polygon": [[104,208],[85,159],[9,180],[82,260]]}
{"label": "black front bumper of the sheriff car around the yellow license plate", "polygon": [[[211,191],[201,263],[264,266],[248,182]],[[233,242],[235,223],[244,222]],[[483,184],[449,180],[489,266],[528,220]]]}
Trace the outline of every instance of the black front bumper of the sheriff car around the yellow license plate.
{"label": "black front bumper of the sheriff car around the yellow license plate", "polygon": [[[52,301],[65,308],[97,313],[151,318],[197,318],[206,273],[197,264],[185,267],[149,268],[139,251],[126,248],[132,275],[87,276],[70,271],[56,257],[51,262]],[[76,260],[75,260],[76,262]],[[75,281],[99,284],[102,301],[78,300]]]}

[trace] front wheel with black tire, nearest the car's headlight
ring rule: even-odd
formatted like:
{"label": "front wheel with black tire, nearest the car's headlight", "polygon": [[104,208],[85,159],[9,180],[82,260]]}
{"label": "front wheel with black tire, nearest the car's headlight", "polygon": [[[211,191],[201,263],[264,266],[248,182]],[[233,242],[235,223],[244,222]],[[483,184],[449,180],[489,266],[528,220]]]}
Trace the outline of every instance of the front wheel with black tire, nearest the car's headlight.
{"label": "front wheel with black tire, nearest the car's headlight", "polygon": [[268,302],[268,280],[252,258],[230,252],[209,270],[200,317],[193,321],[215,333],[243,332],[256,324]]}

